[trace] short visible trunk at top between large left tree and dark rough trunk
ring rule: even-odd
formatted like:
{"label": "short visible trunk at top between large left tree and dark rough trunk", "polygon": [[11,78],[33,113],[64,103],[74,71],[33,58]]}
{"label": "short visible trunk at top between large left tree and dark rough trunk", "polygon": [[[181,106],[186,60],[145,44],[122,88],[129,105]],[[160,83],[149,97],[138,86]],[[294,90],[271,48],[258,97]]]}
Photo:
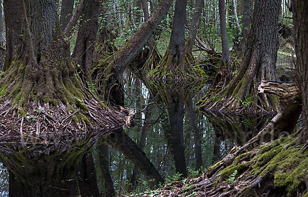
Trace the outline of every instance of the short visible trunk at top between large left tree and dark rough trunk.
{"label": "short visible trunk at top between large left tree and dark rough trunk", "polygon": [[62,0],[61,5],[61,16],[60,16],[60,27],[62,31],[65,30],[67,24],[72,17],[74,9],[74,0]]}

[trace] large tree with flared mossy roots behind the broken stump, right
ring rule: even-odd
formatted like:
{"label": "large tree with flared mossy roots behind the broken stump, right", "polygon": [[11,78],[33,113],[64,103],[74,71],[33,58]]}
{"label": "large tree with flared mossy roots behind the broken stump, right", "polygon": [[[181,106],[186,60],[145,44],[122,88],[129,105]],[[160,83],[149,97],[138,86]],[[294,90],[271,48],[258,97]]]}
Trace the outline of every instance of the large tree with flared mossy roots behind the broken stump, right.
{"label": "large tree with flared mossy roots behind the broken stump, right", "polygon": [[[218,94],[218,101],[204,97],[201,108],[234,111],[237,113],[278,111],[275,95],[257,95],[256,86],[262,80],[276,80],[278,50],[278,16],[280,0],[258,0],[255,3],[253,26],[239,71]],[[271,17],[268,17],[271,16]],[[203,104],[202,104],[203,103]]]}

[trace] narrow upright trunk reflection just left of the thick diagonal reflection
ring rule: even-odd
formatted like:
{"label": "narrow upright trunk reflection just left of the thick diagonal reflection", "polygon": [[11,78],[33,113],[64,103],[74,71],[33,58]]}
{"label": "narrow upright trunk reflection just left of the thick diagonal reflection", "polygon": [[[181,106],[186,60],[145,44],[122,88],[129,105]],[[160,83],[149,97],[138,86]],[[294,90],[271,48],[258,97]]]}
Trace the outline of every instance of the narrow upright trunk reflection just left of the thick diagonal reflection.
{"label": "narrow upright trunk reflection just left of the thick diagonal reflection", "polygon": [[104,195],[106,197],[114,195],[113,182],[109,172],[109,148],[105,143],[98,142],[99,150],[99,165],[101,167],[102,176],[104,178],[105,191]]}

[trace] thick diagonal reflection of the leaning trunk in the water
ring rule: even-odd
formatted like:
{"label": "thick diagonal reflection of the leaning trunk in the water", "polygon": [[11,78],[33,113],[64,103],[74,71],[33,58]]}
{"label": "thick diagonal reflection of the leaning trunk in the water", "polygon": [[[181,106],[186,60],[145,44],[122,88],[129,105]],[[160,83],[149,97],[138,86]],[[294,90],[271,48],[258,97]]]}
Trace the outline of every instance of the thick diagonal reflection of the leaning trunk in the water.
{"label": "thick diagonal reflection of the leaning trunk in the water", "polygon": [[164,183],[161,175],[153,164],[149,161],[145,153],[134,143],[124,132],[123,128],[115,130],[108,135],[107,143],[122,152],[134,165],[136,165],[150,179],[155,180],[155,184]]}

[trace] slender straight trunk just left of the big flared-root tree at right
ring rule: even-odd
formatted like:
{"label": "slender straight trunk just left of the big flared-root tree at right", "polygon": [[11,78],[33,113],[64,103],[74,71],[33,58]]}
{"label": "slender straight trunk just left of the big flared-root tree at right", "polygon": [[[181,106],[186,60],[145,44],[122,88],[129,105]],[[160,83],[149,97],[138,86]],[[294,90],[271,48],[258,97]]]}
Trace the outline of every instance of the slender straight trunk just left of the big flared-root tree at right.
{"label": "slender straight trunk just left of the big flared-root tree at right", "polygon": [[225,66],[227,68],[230,61],[230,51],[227,37],[227,25],[226,25],[226,12],[225,12],[225,0],[219,0],[219,20],[221,30],[221,45],[222,45],[222,56],[220,64],[220,70]]}

